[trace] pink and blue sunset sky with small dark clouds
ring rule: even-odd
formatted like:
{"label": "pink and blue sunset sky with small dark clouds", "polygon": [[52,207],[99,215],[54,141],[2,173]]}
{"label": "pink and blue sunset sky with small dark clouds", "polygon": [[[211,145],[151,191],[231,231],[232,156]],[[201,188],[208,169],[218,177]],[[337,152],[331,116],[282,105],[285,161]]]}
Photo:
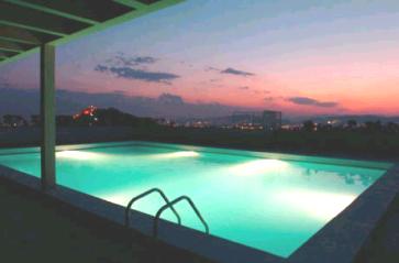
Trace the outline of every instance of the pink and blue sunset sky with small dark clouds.
{"label": "pink and blue sunset sky with small dark clouds", "polygon": [[[37,55],[0,80],[37,88]],[[188,0],[62,45],[57,89],[288,114],[399,113],[398,0]]]}

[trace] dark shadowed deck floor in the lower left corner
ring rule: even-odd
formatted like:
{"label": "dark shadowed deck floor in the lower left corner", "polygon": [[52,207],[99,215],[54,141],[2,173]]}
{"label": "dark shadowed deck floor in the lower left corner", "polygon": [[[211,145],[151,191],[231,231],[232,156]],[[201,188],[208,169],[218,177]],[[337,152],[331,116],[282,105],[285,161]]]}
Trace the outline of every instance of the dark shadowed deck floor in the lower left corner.
{"label": "dark shadowed deck floor in the lower left corner", "polygon": [[211,263],[2,177],[0,207],[0,262]]}

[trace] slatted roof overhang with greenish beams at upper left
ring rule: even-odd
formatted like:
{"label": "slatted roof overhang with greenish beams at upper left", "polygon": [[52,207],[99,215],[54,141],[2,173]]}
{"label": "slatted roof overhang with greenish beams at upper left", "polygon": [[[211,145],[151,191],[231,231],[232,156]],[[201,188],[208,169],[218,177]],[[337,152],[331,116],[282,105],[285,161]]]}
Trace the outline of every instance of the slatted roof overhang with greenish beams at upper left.
{"label": "slatted roof overhang with greenish beams at upper left", "polygon": [[185,0],[1,0],[0,65]]}

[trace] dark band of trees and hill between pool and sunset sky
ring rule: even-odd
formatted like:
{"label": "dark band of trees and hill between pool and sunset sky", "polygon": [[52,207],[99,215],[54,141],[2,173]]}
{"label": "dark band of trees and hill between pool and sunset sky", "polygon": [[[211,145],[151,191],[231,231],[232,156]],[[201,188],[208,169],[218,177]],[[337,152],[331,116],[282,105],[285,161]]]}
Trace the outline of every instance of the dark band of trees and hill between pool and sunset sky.
{"label": "dark band of trees and hill between pool and sunset sky", "polygon": [[[7,127],[27,125],[18,116],[3,116]],[[37,116],[30,125],[38,125]],[[399,124],[380,121],[342,125],[306,121],[297,130],[274,132],[241,131],[221,128],[185,128],[159,125],[156,120],[138,118],[118,109],[96,109],[70,116],[57,116],[57,125],[66,128],[131,127],[132,134],[123,140],[147,140],[219,147],[245,149],[282,153],[326,155],[350,158],[399,160]],[[109,138],[97,138],[107,141]],[[91,142],[91,141],[90,141]],[[68,143],[71,143],[68,141]],[[77,141],[76,143],[84,143]]]}

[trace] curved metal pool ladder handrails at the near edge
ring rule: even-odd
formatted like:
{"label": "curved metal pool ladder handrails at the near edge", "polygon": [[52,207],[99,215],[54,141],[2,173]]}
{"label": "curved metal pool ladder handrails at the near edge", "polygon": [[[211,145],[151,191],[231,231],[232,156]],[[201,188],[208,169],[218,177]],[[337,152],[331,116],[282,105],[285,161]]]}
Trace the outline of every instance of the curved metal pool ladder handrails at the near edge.
{"label": "curved metal pool ladder handrails at the near edge", "polygon": [[146,190],[142,194],[140,194],[138,196],[135,196],[133,197],[126,208],[125,208],[125,211],[124,211],[124,226],[126,229],[129,229],[130,227],[130,213],[131,213],[131,208],[133,206],[133,204],[149,195],[149,194],[153,194],[153,193],[158,193],[160,195],[160,197],[164,199],[164,201],[166,202],[164,206],[162,206],[158,211],[156,212],[155,215],[155,218],[154,218],[154,223],[153,223],[153,237],[154,238],[157,238],[158,237],[158,223],[159,223],[159,218],[160,218],[160,215],[168,208],[170,208],[170,210],[175,213],[176,216],[176,219],[177,219],[177,223],[181,226],[181,218],[179,216],[179,213],[176,211],[176,209],[174,208],[174,205],[176,205],[177,202],[180,202],[180,201],[187,201],[190,207],[192,208],[192,210],[195,211],[195,213],[197,215],[197,217],[199,218],[199,220],[201,221],[201,223],[203,224],[204,227],[204,230],[206,230],[206,233],[209,234],[209,227],[208,227],[208,223],[206,222],[206,220],[203,219],[203,217],[201,216],[200,211],[197,209],[196,205],[193,204],[193,201],[191,200],[191,198],[189,198],[188,196],[180,196],[180,197],[177,197],[176,199],[169,201],[169,199],[166,197],[165,193],[163,190],[160,190],[159,188],[152,188],[149,190]]}

